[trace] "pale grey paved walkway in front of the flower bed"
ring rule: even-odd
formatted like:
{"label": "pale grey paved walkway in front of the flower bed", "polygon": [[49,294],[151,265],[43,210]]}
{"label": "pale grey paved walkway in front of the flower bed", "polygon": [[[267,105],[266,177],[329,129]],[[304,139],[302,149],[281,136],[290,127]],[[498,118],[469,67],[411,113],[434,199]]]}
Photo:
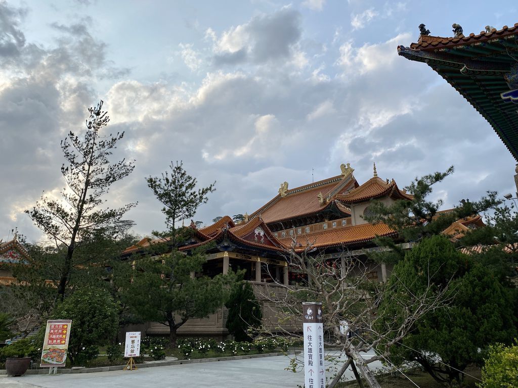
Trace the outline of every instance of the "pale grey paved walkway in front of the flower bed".
{"label": "pale grey paved walkway in front of the flower bed", "polygon": [[[2,388],[132,388],[132,387],[182,387],[182,388],[295,388],[304,384],[302,373],[284,370],[289,364],[287,356],[263,359],[220,361],[182,364],[138,370],[73,375],[0,376]],[[379,367],[375,363],[372,367]],[[347,372],[346,372],[347,373]]]}

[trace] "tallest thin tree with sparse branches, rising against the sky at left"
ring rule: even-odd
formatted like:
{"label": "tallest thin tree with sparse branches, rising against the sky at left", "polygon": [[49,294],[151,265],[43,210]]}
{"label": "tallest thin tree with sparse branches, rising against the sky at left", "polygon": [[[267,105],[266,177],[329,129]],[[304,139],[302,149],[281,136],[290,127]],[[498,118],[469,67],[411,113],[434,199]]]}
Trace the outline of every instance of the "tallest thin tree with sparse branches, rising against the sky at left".
{"label": "tallest thin tree with sparse branches, rising against the sky at left", "polygon": [[129,175],[135,167],[134,160],[109,161],[112,150],[124,137],[124,132],[102,135],[101,130],[110,120],[102,108],[101,100],[95,108],[89,109],[84,137],[70,131],[68,137],[61,141],[61,150],[66,159],[66,164],[61,167],[66,183],[61,198],[55,199],[43,194],[32,210],[25,211],[56,246],[66,247],[57,289],[61,299],[65,297],[74,250],[82,238],[95,229],[119,221],[124,213],[136,205],[128,203],[119,208],[100,208],[106,202],[103,197],[110,186]]}

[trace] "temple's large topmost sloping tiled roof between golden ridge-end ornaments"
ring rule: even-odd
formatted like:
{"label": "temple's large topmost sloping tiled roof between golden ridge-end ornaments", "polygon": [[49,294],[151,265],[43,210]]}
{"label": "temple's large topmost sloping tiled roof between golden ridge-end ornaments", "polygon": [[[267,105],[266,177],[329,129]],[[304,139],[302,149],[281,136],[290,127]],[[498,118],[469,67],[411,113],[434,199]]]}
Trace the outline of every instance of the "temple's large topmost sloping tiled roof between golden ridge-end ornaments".
{"label": "temple's large topmost sloping tiled roof between golden ridge-end ornaments", "polygon": [[[358,183],[351,173],[346,176],[337,175],[322,181],[296,187],[287,190],[285,197],[280,195],[274,197],[266,205],[253,212],[250,218],[255,218],[261,214],[263,220],[266,223],[270,223],[318,213],[326,206],[329,206],[339,193],[344,193],[357,186]],[[319,201],[318,195],[320,192],[327,199],[325,204],[321,204]],[[339,207],[339,209],[346,214],[350,214],[343,207]]]}

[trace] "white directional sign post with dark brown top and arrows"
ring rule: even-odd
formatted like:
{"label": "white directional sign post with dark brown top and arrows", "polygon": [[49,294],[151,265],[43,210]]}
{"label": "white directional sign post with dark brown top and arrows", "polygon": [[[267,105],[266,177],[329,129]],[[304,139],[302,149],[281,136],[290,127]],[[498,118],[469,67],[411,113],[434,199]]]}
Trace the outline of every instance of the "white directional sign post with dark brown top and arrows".
{"label": "white directional sign post with dark brown top and arrows", "polygon": [[325,388],[324,327],[322,303],[302,304],[304,333],[304,383],[306,388]]}

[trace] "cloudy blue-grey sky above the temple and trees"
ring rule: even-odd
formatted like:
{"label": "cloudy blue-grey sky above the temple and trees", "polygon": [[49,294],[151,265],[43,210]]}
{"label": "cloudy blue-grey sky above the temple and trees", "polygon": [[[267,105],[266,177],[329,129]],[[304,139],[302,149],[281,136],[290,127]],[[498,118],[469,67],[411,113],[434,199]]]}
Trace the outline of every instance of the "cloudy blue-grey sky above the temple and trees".
{"label": "cloudy blue-grey sky above the temple and trees", "polygon": [[[479,3],[478,6],[476,3]],[[164,216],[145,177],[183,160],[217,191],[196,220],[249,214],[290,188],[376,162],[405,186],[454,165],[447,205],[514,192],[514,161],[493,129],[424,64],[397,55],[432,35],[518,21],[514,1],[0,1],[0,238],[39,231],[23,211],[58,192],[60,140],[105,101],[117,156],[136,159],[109,205],[146,235]],[[505,10],[505,12],[503,11]]]}

